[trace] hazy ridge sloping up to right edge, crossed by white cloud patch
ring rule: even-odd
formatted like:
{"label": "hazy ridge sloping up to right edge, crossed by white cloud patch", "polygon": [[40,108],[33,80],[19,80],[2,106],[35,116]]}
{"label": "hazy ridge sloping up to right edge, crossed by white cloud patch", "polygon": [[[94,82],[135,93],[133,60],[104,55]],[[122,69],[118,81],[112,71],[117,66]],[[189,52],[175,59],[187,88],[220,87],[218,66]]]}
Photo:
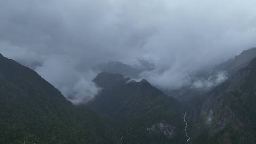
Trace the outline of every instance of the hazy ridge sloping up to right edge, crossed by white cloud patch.
{"label": "hazy ridge sloping up to right edge, crossed by white cloud patch", "polygon": [[215,66],[206,66],[201,71],[194,72],[192,83],[177,90],[165,92],[178,99],[185,107],[193,107],[205,92],[212,90],[228,77],[232,77],[239,69],[246,67],[256,57],[256,47],[243,51],[234,58]]}

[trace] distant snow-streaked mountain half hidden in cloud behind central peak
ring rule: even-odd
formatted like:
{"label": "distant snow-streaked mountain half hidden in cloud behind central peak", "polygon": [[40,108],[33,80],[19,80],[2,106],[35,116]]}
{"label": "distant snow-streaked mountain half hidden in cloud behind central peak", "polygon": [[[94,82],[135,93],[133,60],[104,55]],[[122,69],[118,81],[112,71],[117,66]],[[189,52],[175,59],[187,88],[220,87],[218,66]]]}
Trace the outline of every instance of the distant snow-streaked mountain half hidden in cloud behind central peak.
{"label": "distant snow-streaked mountain half hidden in cloud behind central peak", "polygon": [[137,60],[137,64],[128,64],[123,62],[109,62],[101,63],[94,66],[95,71],[120,73],[130,78],[139,78],[139,74],[143,71],[152,71],[156,68],[154,63],[150,63],[146,60]]}

